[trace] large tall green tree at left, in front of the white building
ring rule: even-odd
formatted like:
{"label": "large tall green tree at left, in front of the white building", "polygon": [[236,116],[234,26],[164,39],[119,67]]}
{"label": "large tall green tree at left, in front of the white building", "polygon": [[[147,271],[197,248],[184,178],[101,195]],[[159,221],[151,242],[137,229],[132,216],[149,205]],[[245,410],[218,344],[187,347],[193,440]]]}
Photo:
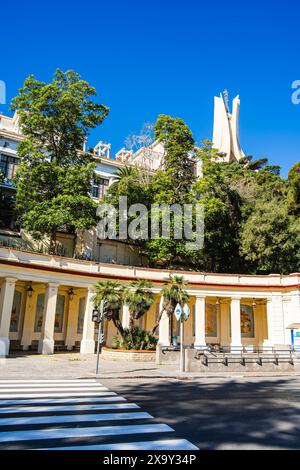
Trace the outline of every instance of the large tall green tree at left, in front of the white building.
{"label": "large tall green tree at left, in front of the white building", "polygon": [[34,238],[50,238],[52,253],[59,228],[88,229],[97,220],[89,197],[95,164],[80,151],[108,113],[95,95],[77,73],[57,70],[51,83],[29,76],[12,102],[25,136],[18,146],[17,210]]}

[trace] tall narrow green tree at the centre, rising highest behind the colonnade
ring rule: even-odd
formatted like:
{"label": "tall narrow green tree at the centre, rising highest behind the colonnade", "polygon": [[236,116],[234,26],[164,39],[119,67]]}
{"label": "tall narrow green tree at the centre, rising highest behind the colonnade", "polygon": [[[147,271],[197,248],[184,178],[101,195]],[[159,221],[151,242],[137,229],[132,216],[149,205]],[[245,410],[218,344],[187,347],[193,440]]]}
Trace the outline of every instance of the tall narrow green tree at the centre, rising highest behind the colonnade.
{"label": "tall narrow green tree at the centre, rising highest behind the colonnade", "polygon": [[[195,141],[188,126],[182,119],[161,114],[154,126],[155,139],[164,145],[162,168],[149,181],[151,204],[193,203],[190,199],[192,184],[195,182],[196,152]],[[150,204],[149,204],[150,205]],[[164,214],[152,213],[152,222],[158,218],[161,226]],[[151,222],[151,218],[149,220]],[[182,218],[182,229],[184,220]],[[170,217],[170,237],[159,236],[142,243],[144,252],[153,265],[174,266],[189,262],[186,240],[175,239],[175,217]],[[184,234],[184,230],[182,230]]]}

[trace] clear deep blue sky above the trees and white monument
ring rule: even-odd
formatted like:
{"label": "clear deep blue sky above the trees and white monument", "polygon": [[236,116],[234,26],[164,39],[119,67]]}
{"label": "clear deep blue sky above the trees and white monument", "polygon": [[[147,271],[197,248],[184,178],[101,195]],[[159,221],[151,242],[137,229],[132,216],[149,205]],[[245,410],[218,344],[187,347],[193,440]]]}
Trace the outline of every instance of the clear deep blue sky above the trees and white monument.
{"label": "clear deep blue sky above the trees and white monument", "polygon": [[[73,69],[110,107],[89,144],[124,145],[158,114],[181,117],[196,141],[212,137],[213,97],[240,94],[246,154],[283,175],[300,160],[300,5],[296,0],[52,0],[2,2],[0,80],[8,101],[30,73]],[[8,106],[0,111],[8,113]]]}

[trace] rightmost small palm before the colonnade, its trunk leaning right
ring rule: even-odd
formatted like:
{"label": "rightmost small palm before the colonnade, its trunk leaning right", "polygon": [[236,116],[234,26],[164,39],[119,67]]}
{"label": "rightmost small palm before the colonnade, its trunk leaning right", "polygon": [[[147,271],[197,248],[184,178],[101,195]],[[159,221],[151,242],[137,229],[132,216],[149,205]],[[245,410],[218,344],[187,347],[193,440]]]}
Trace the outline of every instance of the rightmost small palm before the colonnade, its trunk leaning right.
{"label": "rightmost small palm before the colonnade, its trunk leaning right", "polygon": [[161,290],[163,297],[162,310],[156,319],[155,325],[152,329],[152,333],[155,333],[159,326],[163,312],[166,312],[169,318],[172,318],[176,305],[179,303],[183,305],[190,298],[184,287],[188,284],[188,281],[183,276],[170,275],[167,279],[167,283]]}

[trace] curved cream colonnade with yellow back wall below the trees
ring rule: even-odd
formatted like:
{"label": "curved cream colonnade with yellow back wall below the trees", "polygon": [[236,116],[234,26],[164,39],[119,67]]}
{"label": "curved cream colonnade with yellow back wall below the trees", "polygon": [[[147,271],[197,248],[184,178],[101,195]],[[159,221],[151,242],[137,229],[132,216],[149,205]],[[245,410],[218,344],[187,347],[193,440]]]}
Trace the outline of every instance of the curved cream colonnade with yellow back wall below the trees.
{"label": "curved cream colonnade with yellow back wall below the trees", "polygon": [[[234,341],[235,345],[250,349],[291,344],[289,325],[300,323],[300,275],[176,274],[183,275],[189,282],[187,291],[190,294],[191,315],[184,324],[186,345],[197,345],[197,339],[201,347],[208,344],[232,347]],[[152,281],[155,303],[137,322],[151,331],[159,314],[160,291],[167,275],[168,271],[159,269],[80,261],[0,247],[0,346],[5,352],[9,351],[9,347],[11,350],[16,347],[36,349],[38,342],[43,340],[40,331],[42,320],[49,315],[46,339],[50,346],[54,344],[55,349],[72,350],[79,349],[84,343],[82,351],[93,352],[97,340],[94,324],[91,328],[93,286],[101,279],[116,279],[125,283],[136,279]],[[53,290],[52,300],[44,308],[41,296],[45,296],[49,286]],[[241,313],[238,314],[243,310],[243,305],[250,311],[254,309],[253,337],[243,337],[239,330],[240,324],[245,327]],[[207,328],[214,331],[214,326],[211,325],[211,318],[206,318],[206,311],[214,312],[214,309],[217,309],[216,331],[211,334]],[[127,322],[128,312],[126,315],[124,321]],[[231,338],[232,321],[235,322],[234,341]],[[49,333],[49,325],[52,324],[54,331]],[[112,322],[106,322],[104,331],[107,344],[111,345],[118,332]],[[179,336],[179,324],[175,318],[170,322],[169,318],[164,317],[157,335],[164,345],[170,344],[172,336]],[[51,353],[51,347],[49,351]]]}

